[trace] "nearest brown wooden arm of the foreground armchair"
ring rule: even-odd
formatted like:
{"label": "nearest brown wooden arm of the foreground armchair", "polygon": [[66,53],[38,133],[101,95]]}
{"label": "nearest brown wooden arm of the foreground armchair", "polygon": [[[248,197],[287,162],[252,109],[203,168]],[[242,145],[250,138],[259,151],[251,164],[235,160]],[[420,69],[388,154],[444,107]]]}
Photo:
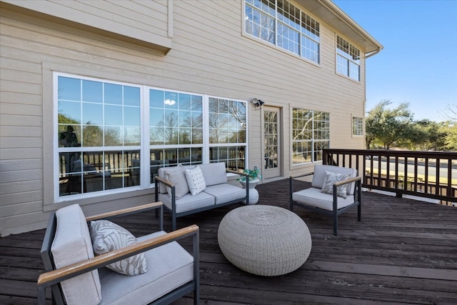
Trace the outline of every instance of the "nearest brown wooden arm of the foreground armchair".
{"label": "nearest brown wooden arm of the foreground armchair", "polygon": [[164,244],[168,244],[171,241],[184,239],[187,236],[191,236],[198,233],[199,226],[195,224],[191,226],[186,226],[183,229],[172,231],[161,236],[156,236],[152,239],[141,241],[138,244],[126,246],[123,249],[112,251],[106,254],[101,254],[99,256],[93,257],[92,259],[86,259],[84,261],[80,261],[69,266],[45,272],[44,274],[40,274],[37,284],[39,288],[42,286],[51,286],[61,281],[64,281],[65,279],[70,279],[74,276],[79,276],[80,274],[84,274],[86,272],[99,269],[103,266],[114,263],[115,261],[126,259],[127,257],[134,256],[136,254],[148,251],[150,249],[154,249]]}

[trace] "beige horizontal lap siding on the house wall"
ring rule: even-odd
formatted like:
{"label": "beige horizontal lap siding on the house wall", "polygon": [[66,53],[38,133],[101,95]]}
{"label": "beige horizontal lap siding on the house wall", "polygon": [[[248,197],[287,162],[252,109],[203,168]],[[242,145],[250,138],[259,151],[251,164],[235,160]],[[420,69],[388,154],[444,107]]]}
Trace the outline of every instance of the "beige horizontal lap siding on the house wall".
{"label": "beige horizontal lap siding on the house wall", "polygon": [[[22,5],[27,1],[19,2]],[[166,1],[151,1],[154,4],[150,7],[146,7],[149,1],[108,1],[106,6],[99,1],[52,2],[85,11],[80,17],[90,11],[96,19],[104,11],[104,18],[136,27],[137,34],[146,29],[159,36],[171,34],[170,24],[164,21],[169,20],[164,16]],[[42,229],[49,211],[76,203],[54,203],[52,71],[245,101],[256,97],[268,106],[280,107],[284,177],[312,166],[291,166],[293,107],[330,112],[332,148],[364,147],[363,137],[351,135],[351,115],[364,116],[364,60],[360,83],[337,75],[338,31],[323,22],[321,64],[317,65],[243,35],[243,1],[174,1],[173,44],[166,55],[151,52],[152,44],[134,44],[121,36],[104,36],[69,23],[56,23],[47,15],[31,14],[29,9],[12,7],[1,6],[0,20],[1,236]],[[129,14],[124,14],[126,10]],[[146,18],[157,10],[159,26]],[[51,9],[46,14],[52,12]],[[63,14],[61,9],[56,9],[55,15],[59,14]],[[120,19],[121,15],[124,18]],[[126,35],[121,29],[111,30]],[[262,115],[261,109],[248,103],[251,168],[262,167]],[[153,198],[152,190],[144,189],[77,202],[90,215]]]}

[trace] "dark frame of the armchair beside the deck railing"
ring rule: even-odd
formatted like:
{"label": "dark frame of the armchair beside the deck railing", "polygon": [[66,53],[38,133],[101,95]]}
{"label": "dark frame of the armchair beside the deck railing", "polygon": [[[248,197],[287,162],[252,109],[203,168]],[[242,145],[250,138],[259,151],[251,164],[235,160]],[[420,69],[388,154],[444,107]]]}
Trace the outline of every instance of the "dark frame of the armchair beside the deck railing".
{"label": "dark frame of the armchair beside the deck railing", "polygon": [[[308,210],[311,210],[311,211],[316,211],[318,213],[331,216],[332,219],[333,219],[333,235],[335,235],[335,236],[338,236],[338,216],[340,214],[343,214],[345,211],[348,211],[348,209],[352,209],[353,207],[357,206],[357,220],[361,221],[361,214],[362,214],[362,187],[361,187],[362,183],[361,183],[361,181],[362,181],[362,178],[359,177],[359,176],[353,177],[353,178],[350,178],[350,179],[346,179],[346,180],[343,180],[343,181],[339,181],[339,182],[336,182],[335,184],[333,184],[333,208],[332,208],[332,211],[329,211],[329,210],[326,210],[326,209],[321,209],[321,208],[318,208],[316,206],[311,206],[311,205],[308,205],[308,204],[303,204],[303,203],[300,203],[298,201],[294,201],[292,199],[293,179],[296,179],[296,178],[299,178],[299,177],[303,177],[303,176],[311,176],[313,174],[314,173],[308,173],[308,174],[304,174],[304,175],[300,175],[300,176],[290,176],[289,177],[289,199],[290,199],[290,209],[291,209],[291,211],[293,211],[293,206],[299,206],[299,207],[304,208],[304,209],[308,209]],[[351,195],[354,198],[353,204],[350,204],[350,205],[345,206],[345,207],[343,207],[341,209],[338,209],[338,196],[336,195],[337,194],[336,189],[338,188],[338,186],[342,186],[344,184],[350,184],[352,182],[356,183],[356,186],[355,186],[355,189],[354,189],[354,194]],[[311,187],[313,187],[313,186],[311,186]]]}

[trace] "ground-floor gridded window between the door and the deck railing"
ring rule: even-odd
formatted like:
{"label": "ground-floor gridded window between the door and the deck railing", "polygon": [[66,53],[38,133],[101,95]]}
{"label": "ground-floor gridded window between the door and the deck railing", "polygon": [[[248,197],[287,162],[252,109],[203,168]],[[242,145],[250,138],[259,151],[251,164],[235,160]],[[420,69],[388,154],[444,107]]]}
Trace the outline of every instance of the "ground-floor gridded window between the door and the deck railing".
{"label": "ground-floor gridded window between the door and the deck railing", "polygon": [[293,108],[292,136],[293,165],[321,161],[330,142],[330,114]]}

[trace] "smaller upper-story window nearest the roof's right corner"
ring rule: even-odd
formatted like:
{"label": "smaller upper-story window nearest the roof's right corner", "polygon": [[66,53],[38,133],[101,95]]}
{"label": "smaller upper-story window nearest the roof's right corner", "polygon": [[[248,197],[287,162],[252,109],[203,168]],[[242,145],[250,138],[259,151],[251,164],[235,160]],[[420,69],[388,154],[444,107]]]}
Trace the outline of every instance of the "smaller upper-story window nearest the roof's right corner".
{"label": "smaller upper-story window nearest the roof's right corner", "polygon": [[336,72],[360,81],[360,50],[336,36]]}

